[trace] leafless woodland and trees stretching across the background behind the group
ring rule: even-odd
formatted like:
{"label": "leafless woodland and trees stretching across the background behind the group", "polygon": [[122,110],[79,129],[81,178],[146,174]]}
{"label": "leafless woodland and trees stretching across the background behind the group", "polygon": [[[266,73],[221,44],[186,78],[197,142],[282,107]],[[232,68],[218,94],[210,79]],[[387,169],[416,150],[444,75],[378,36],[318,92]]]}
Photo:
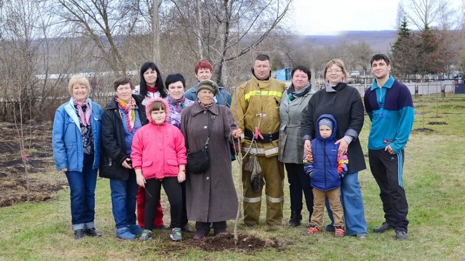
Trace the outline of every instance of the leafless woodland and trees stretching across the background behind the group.
{"label": "leafless woodland and trees stretching across the background behind the group", "polygon": [[[465,0],[401,1],[393,73],[400,78],[465,71]],[[273,69],[307,65],[315,76],[331,58],[366,72],[375,52],[364,41],[312,46],[296,35],[292,0],[0,0],[0,120],[50,120],[69,95],[72,73],[86,73],[91,96],[105,105],[118,75],[138,82],[144,61],[162,76],[195,83],[207,58],[213,79],[233,91],[258,52]],[[363,75],[363,74],[362,74]],[[361,75],[361,76],[362,76]]]}

